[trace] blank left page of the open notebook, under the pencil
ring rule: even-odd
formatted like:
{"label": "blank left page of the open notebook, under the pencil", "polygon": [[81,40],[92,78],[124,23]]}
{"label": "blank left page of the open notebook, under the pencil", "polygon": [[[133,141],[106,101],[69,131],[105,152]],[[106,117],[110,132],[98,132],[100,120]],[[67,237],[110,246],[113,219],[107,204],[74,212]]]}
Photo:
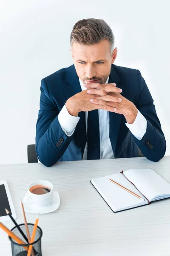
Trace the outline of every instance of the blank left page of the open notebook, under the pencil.
{"label": "blank left page of the open notebook, under the pencil", "polygon": [[142,196],[140,192],[131,184],[126,177],[122,174],[113,174],[105,177],[94,178],[91,183],[96,187],[100,195],[104,198],[107,204],[113,209],[114,212],[140,205],[148,204],[148,201],[142,201],[136,196],[130,194],[108,179],[112,179],[127,189]]}

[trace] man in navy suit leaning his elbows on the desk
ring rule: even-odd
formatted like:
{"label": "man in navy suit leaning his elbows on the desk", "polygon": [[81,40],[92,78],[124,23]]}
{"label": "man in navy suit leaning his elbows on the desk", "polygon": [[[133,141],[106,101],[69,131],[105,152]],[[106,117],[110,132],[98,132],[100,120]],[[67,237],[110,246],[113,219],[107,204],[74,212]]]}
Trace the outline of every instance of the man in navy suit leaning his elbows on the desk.
{"label": "man in navy suit leaning his elbows on the desk", "polygon": [[164,157],[166,141],[139,70],[113,64],[111,28],[100,19],[79,20],[70,36],[74,65],[41,81],[36,153],[41,163]]}

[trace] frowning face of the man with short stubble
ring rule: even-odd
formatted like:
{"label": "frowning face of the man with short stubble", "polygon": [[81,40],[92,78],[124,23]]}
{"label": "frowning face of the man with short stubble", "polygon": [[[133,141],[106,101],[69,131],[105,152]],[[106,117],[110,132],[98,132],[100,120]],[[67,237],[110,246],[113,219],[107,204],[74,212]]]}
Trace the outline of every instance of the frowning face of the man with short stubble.
{"label": "frowning face of the man with short stubble", "polygon": [[80,45],[74,42],[71,53],[77,75],[83,84],[105,84],[111,73],[111,64],[116,59],[117,48],[111,54],[107,40],[94,45]]}

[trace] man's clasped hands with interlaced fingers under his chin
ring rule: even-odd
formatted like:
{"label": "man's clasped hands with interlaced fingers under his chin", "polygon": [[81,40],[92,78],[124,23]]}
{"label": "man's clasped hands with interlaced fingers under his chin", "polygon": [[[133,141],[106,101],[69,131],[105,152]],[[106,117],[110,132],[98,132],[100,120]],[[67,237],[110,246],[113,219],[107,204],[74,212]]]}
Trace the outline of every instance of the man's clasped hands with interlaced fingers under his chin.
{"label": "man's clasped hands with interlaced fingers under his chin", "polygon": [[66,108],[70,115],[78,116],[81,111],[100,108],[123,114],[129,124],[135,121],[138,113],[136,106],[120,94],[122,89],[116,87],[116,84],[88,83],[85,87],[88,90],[83,90],[67,100]]}

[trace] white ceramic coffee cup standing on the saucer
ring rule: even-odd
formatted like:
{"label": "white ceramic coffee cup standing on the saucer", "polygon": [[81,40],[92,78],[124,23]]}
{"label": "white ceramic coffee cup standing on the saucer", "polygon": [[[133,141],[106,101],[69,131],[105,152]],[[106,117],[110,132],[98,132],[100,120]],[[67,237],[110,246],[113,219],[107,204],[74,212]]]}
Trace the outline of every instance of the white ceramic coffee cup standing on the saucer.
{"label": "white ceramic coffee cup standing on the saucer", "polygon": [[[30,191],[30,189],[36,185],[41,185],[44,187],[49,188],[51,191],[43,194],[43,195],[37,195],[34,194]],[[53,184],[49,181],[46,180],[37,180],[32,182],[31,184],[29,184],[28,186],[28,193],[27,193],[27,198],[26,198],[26,203],[27,204],[34,204],[36,206],[45,206],[47,204],[49,204],[52,199],[53,199],[53,192],[54,192],[54,188],[53,188]]]}

